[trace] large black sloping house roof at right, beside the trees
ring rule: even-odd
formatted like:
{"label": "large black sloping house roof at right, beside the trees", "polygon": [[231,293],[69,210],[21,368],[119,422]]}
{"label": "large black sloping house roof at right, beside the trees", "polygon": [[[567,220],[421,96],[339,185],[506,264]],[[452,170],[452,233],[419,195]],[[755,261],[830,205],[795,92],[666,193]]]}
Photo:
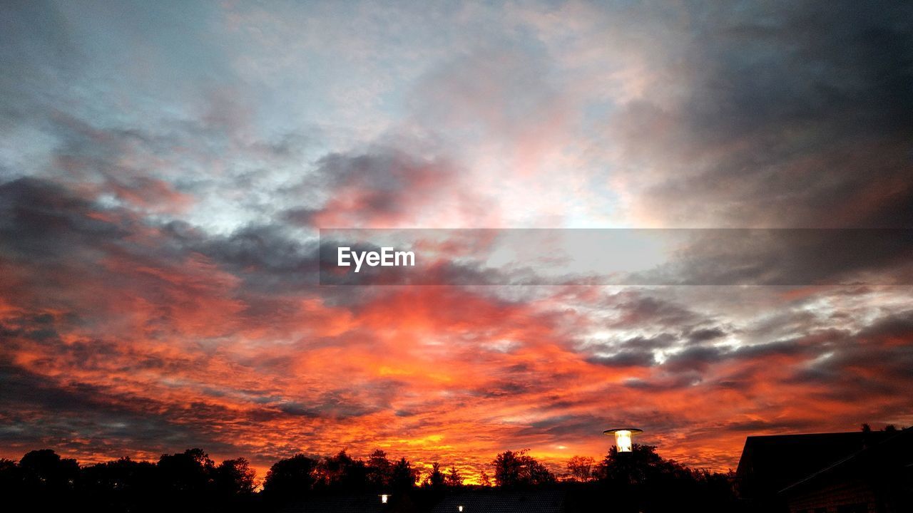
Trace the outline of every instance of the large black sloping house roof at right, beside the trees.
{"label": "large black sloping house roof at right, beside the trees", "polygon": [[736,476],[743,495],[771,495],[890,437],[884,431],[749,436]]}

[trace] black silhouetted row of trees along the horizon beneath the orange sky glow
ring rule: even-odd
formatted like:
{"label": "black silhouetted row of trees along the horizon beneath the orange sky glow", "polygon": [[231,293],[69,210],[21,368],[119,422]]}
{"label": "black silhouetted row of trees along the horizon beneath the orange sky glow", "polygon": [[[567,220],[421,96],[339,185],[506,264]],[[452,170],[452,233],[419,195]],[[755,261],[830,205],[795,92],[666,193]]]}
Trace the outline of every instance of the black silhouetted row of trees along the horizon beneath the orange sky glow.
{"label": "black silhouetted row of trees along the horizon beneath the orange sky glow", "polygon": [[[651,445],[635,445],[631,453],[612,447],[601,461],[573,456],[564,472],[555,473],[528,450],[498,454],[473,487],[578,487],[577,497],[599,500],[605,494],[631,500],[638,510],[675,506],[671,497],[698,501],[708,510],[731,506],[731,476],[692,470],[656,454]],[[390,459],[382,450],[355,458],[336,455],[293,455],[273,464],[257,492],[255,472],[245,458],[216,464],[201,449],[162,455],[157,462],[124,457],[79,466],[50,449],[31,451],[18,462],[0,460],[0,493],[26,499],[36,508],[74,504],[98,511],[275,510],[308,497],[332,494],[396,494],[443,497],[467,487],[456,466],[433,463],[421,472],[406,458]],[[587,495],[590,494],[590,495]],[[619,498],[620,497],[620,498]],[[626,498],[625,498],[626,497]],[[719,508],[712,508],[719,505]]]}

